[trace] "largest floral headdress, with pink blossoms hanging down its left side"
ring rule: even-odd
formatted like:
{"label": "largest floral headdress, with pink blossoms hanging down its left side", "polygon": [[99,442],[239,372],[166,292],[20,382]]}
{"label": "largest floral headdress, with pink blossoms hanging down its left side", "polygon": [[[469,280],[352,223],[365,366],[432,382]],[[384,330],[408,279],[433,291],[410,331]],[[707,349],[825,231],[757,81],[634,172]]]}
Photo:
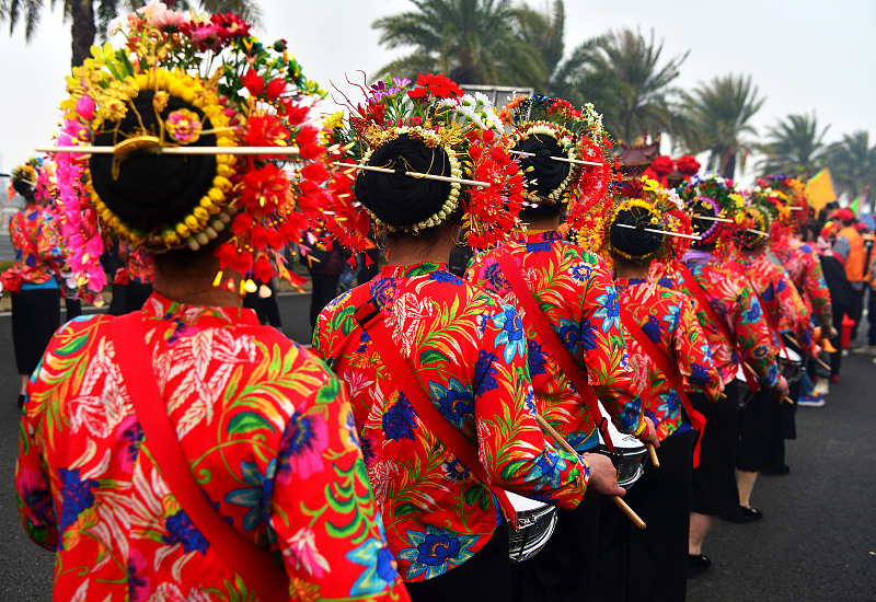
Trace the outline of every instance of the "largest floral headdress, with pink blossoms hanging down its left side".
{"label": "largest floral headdress, with pink blossoms hanging down its left side", "polygon": [[[228,270],[244,275],[241,287],[246,291],[255,288],[252,278],[291,279],[278,250],[297,241],[309,216],[327,202],[321,186],[328,178],[322,163],[327,161],[326,150],[319,142],[319,129],[308,125],[312,101],[324,93],[301,74],[284,40],[265,47],[238,15],[192,16],[153,0],[124,21],[124,47],[92,47],[92,58],[67,78],[70,99],[61,103],[58,147],[90,147],[95,137],[108,134],[114,174],[119,162],[138,150],[212,153],[216,173],[187,215],[145,231],[101,200],[91,184],[88,155],[58,152],[61,234],[79,285],[87,285],[93,296],[106,283],[99,261],[104,247],[99,223],[129,246],[153,253],[197,250],[230,229],[230,240],[217,251],[222,268],[217,286],[231,286]],[[129,113],[140,116],[134,100],[147,92],[152,94],[158,126],[124,138],[117,124]],[[171,111],[171,99],[197,111]],[[207,135],[216,137],[216,147],[195,148]],[[297,164],[293,181],[281,169],[290,155],[306,161]]]}

